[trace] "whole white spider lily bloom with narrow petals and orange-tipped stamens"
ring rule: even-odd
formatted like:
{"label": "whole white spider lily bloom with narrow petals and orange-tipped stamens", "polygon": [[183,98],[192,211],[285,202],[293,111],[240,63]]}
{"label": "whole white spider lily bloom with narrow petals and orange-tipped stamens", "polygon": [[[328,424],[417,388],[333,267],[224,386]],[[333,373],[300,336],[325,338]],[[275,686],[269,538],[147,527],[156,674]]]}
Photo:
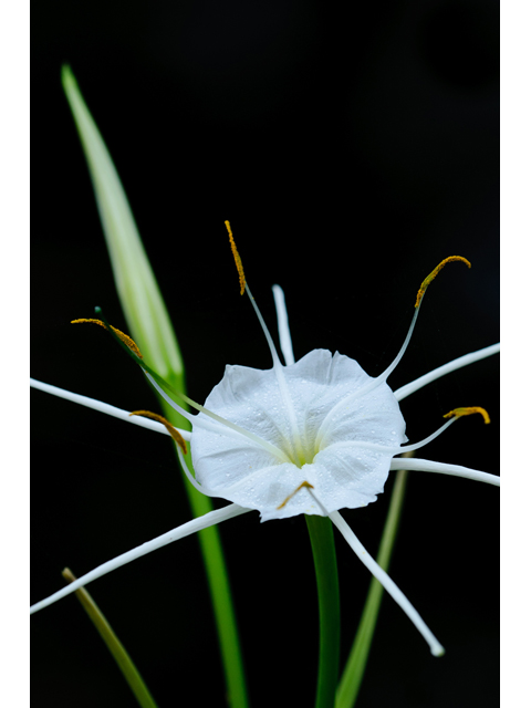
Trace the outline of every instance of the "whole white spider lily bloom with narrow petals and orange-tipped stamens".
{"label": "whole white spider lily bloom with narrow petals and orange-tipped stamens", "polygon": [[[257,510],[261,521],[305,514],[327,516],[343,534],[360,560],[377,577],[406,612],[427,641],[434,655],[444,648],[413,607],[404,593],[365,551],[357,537],[341,517],[343,508],[356,509],[375,501],[383,492],[389,470],[416,469],[455,475],[499,486],[499,477],[457,465],[421,459],[395,459],[408,450],[417,450],[440,435],[457,418],[473,413],[483,416],[482,408],[457,408],[437,431],[413,445],[405,436],[405,420],[398,402],[421,386],[451,371],[499,352],[493,345],[461,356],[430,374],[393,393],[386,379],[403,357],[415,327],[427,287],[450,261],[470,263],[458,256],[445,259],[423,282],[415,303],[415,313],[406,340],[394,362],[377,377],[368,376],[354,360],[325,350],[314,350],[295,362],[288,326],[282,290],[273,287],[279,321],[282,365],[271,335],[246,283],[240,257],[236,250],[229,222],[227,228],[240,275],[240,292],[247,291],[266,335],[273,366],[267,371],[246,366],[227,366],[223,378],[215,386],[205,406],[200,406],[170,386],[146,366],[139,352],[114,327],[113,336],[126,344],[157,392],[192,424],[192,433],[176,431],[162,416],[148,412],[127,414],[106,404],[77,396],[32,381],[34,387],[73,402],[129,419],[150,429],[171,435],[183,469],[190,483],[211,497],[232,503],[201,518],[184,523],[168,533],[118,555],[100,565],[74,583],[37,603],[31,612],[74,592],[77,587],[119,568],[146,553],[186,535],[220,523],[232,517]],[[94,321],[93,321],[94,322]],[[103,324],[98,322],[98,324]],[[106,324],[104,324],[106,326]],[[108,329],[108,327],[107,327]],[[166,393],[165,388],[199,410],[190,415]],[[129,417],[134,415],[135,417]],[[155,419],[138,417],[147,415]],[[195,477],[184,455],[190,442]]]}

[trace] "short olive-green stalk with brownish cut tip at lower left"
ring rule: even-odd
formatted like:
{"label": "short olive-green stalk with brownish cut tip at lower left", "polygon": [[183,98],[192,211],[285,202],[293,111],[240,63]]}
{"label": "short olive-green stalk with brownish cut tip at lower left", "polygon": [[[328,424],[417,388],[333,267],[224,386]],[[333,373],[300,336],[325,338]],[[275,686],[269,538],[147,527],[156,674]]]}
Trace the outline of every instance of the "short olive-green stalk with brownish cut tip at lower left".
{"label": "short olive-green stalk with brownish cut tip at lower left", "polygon": [[[63,570],[63,577],[67,580],[69,583],[72,583],[75,580],[75,575],[72,573],[70,568],[65,568]],[[113,632],[113,628],[108,624],[107,620],[105,618],[104,614],[96,605],[94,600],[84,587],[80,587],[80,590],[76,590],[75,595],[83,605],[83,608],[85,610],[88,617],[92,620],[92,623],[98,631],[102,639],[107,645],[108,650],[113,655],[114,660],[124,675],[124,678],[127,681],[131,690],[135,695],[138,705],[142,708],[157,708],[157,704],[154,701],[152,694],[144,683],[144,679],[134,665],[133,659],[127,654],[122,642]]]}

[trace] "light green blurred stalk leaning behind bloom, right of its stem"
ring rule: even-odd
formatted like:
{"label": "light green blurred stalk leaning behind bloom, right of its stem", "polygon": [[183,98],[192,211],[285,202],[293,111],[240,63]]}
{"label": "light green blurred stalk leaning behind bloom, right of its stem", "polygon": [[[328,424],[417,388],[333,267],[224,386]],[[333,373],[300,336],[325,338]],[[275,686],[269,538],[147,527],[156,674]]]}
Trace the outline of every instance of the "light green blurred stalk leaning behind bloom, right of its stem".
{"label": "light green blurred stalk leaning behind bloom, right of its stem", "polygon": [[[413,454],[406,454],[405,457],[412,457]],[[396,540],[398,530],[398,521],[400,519],[402,507],[404,502],[404,492],[406,489],[407,471],[400,470],[396,472],[393,494],[389,503],[389,511],[385,522],[384,533],[379,543],[378,555],[376,561],[384,571],[387,571],[391,561],[391,554]],[[337,687],[337,696],[335,708],[353,708],[356,702],[360,687],[362,685],[365,666],[368,659],[368,653],[373,641],[376,622],[378,618],[379,606],[384,589],[381,583],[373,577],[368,589],[367,600],[363,610],[362,620],[357,627],[357,633],[352,646],[345,670]]]}

